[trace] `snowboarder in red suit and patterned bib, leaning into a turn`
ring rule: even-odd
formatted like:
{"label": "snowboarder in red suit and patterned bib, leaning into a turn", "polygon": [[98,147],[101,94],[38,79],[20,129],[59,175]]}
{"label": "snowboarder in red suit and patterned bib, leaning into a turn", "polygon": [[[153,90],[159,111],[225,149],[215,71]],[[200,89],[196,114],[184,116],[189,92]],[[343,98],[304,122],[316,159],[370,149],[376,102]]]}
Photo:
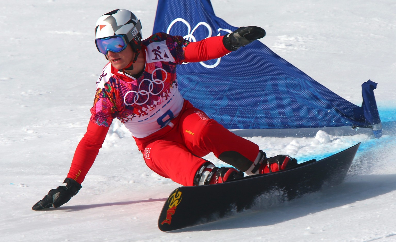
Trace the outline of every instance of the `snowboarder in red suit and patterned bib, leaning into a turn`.
{"label": "snowboarder in red suit and patterned bib, leaning into a turn", "polygon": [[[132,133],[150,169],[182,185],[222,183],[241,178],[244,172],[263,174],[297,164],[287,155],[267,158],[257,144],[194,108],[177,87],[177,64],[223,57],[263,38],[263,28],[240,27],[198,42],[165,33],[142,40],[141,28],[140,20],[126,9],[98,19],[95,43],[109,63],[96,83],[87,132],[64,183],[51,189],[33,210],[57,208],[78,193],[114,118]],[[210,152],[235,168],[218,168],[202,158]]]}

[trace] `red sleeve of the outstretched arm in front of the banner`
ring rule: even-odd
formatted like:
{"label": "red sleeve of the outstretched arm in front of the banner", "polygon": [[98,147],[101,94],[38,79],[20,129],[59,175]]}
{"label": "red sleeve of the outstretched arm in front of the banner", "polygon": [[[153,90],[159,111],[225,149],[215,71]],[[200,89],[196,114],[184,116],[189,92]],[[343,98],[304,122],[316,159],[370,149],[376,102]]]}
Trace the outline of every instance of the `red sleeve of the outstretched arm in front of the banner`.
{"label": "red sleeve of the outstretched arm in front of the banner", "polygon": [[231,53],[223,44],[224,36],[213,36],[198,42],[190,42],[185,49],[185,62],[217,59]]}

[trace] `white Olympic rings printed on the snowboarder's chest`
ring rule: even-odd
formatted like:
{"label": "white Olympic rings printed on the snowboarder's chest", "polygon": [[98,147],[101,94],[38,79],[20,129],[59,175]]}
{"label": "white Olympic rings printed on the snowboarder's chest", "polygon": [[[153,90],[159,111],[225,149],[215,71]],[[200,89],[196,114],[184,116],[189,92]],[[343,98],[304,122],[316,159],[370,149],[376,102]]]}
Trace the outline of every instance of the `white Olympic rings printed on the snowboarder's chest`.
{"label": "white Olympic rings printed on the snowboarder's chest", "polygon": [[[160,71],[165,73],[164,80],[154,79],[154,73],[157,70],[160,70]],[[151,74],[151,80],[145,78],[145,79],[143,79],[141,81],[141,83],[139,84],[138,91],[131,90],[131,91],[128,91],[127,93],[125,93],[125,95],[124,95],[124,104],[127,105],[127,106],[133,105],[133,104],[137,104],[137,105],[145,104],[150,99],[150,94],[151,95],[158,95],[158,94],[160,94],[162,92],[162,90],[164,90],[164,87],[165,87],[164,81],[167,78],[168,78],[168,72],[166,72],[166,70],[164,70],[162,68],[156,68]],[[147,81],[150,83],[147,86],[148,90],[142,89],[141,85],[143,83],[147,83]],[[154,90],[158,90],[159,89],[158,87],[160,87],[161,90],[154,91]],[[133,93],[133,102],[132,103],[128,103],[127,100],[126,100],[129,93]],[[138,102],[139,98],[141,98],[141,97],[145,97],[144,102]]]}

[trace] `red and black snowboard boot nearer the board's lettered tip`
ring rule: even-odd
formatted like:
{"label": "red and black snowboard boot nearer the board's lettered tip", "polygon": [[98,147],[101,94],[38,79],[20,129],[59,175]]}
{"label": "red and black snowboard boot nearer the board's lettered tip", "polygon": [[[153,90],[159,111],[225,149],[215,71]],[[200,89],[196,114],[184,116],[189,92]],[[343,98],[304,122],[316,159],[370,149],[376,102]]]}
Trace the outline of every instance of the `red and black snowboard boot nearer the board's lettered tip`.
{"label": "red and black snowboard boot nearer the board's lettered tip", "polygon": [[194,185],[223,183],[242,177],[244,177],[244,173],[233,167],[219,168],[208,161],[195,174]]}

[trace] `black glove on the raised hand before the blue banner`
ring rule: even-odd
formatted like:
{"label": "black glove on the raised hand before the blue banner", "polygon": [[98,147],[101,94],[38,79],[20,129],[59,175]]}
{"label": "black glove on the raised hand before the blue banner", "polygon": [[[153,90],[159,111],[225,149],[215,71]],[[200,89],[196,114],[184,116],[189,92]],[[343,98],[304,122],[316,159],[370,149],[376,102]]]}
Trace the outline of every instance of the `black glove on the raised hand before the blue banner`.
{"label": "black glove on the raised hand before the blue banner", "polygon": [[257,26],[240,27],[223,37],[223,44],[229,51],[236,51],[242,46],[265,36],[265,30]]}

